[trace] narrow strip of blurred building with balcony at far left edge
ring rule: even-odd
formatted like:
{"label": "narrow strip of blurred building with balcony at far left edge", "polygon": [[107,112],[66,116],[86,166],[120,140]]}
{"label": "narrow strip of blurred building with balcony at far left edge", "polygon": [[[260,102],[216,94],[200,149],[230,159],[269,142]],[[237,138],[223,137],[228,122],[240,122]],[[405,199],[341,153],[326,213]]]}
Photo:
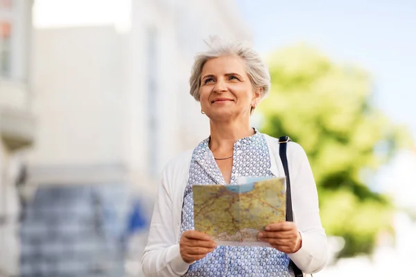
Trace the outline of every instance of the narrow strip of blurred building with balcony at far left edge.
{"label": "narrow strip of blurred building with balcony at far left edge", "polygon": [[31,1],[0,1],[0,276],[19,267],[21,153],[35,142],[28,83]]}

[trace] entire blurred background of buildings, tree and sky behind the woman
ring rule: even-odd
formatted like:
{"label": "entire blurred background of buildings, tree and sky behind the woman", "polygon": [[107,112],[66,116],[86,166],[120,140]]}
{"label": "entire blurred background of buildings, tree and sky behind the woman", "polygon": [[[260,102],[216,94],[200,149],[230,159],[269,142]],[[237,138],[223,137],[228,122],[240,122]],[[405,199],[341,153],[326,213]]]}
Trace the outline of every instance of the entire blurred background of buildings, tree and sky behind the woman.
{"label": "entire blurred background of buildings, tree and sky behind the woman", "polygon": [[[314,276],[416,276],[416,2],[0,0],[0,276],[143,276],[164,164],[209,135],[203,39],[246,39],[252,117],[306,150]],[[413,274],[413,275],[412,275]]]}

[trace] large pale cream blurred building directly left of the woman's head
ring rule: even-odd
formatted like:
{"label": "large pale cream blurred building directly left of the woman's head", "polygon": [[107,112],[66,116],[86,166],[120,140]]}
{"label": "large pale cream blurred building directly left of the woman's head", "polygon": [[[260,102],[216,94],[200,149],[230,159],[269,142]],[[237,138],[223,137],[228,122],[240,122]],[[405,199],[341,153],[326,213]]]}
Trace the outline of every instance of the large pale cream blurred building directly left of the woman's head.
{"label": "large pale cream blurred building directly left of the woman's head", "polygon": [[36,0],[33,23],[21,276],[121,276],[128,203],[148,217],[164,164],[209,133],[193,55],[248,30],[232,0]]}

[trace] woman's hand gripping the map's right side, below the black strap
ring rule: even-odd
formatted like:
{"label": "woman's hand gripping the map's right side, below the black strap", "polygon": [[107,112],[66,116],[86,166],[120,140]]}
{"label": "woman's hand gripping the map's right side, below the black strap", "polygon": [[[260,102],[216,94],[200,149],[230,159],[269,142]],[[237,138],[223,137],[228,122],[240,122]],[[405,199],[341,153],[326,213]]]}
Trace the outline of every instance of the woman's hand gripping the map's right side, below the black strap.
{"label": "woman's hand gripping the map's right side, below the black strap", "polygon": [[302,236],[293,222],[279,222],[266,226],[259,239],[284,253],[295,253],[302,247]]}

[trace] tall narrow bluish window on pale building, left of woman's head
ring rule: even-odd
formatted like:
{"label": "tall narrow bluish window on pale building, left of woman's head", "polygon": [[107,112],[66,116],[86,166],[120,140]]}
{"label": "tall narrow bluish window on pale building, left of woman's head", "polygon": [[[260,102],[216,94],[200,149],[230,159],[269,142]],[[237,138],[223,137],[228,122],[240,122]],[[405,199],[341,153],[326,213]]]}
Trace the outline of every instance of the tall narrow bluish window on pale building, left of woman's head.
{"label": "tall narrow bluish window on pale building, left of woman's head", "polygon": [[148,117],[148,161],[150,175],[158,175],[158,141],[159,141],[159,122],[158,122],[158,97],[159,87],[157,84],[158,75],[157,57],[157,29],[149,27],[146,30],[146,92],[147,92],[147,117]]}

